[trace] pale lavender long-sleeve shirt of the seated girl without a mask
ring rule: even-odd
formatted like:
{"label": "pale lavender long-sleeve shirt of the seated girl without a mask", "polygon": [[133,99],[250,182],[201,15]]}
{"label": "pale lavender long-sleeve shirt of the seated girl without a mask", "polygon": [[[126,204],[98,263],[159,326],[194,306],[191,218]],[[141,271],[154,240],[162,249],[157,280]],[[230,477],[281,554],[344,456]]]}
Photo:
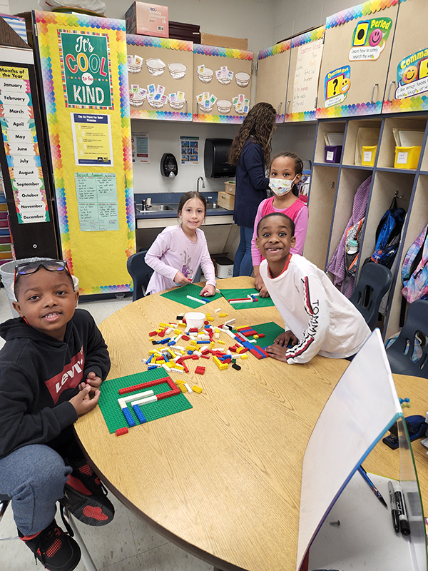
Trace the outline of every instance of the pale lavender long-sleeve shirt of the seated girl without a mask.
{"label": "pale lavender long-sleeve shirt of the seated girl without a mask", "polygon": [[205,234],[196,228],[198,240],[189,240],[183,228],[167,226],[156,238],[146,253],[146,263],[155,271],[151,277],[147,293],[156,293],[176,287],[175,274],[181,272],[193,281],[199,266],[202,268],[207,285],[215,287],[214,264],[208,252]]}

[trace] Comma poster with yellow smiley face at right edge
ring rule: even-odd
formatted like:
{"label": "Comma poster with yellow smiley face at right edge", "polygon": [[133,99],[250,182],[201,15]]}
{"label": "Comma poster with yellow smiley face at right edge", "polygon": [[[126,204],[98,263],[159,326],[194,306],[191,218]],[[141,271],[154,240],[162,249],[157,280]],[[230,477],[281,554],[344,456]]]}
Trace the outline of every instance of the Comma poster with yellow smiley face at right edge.
{"label": "Comma poster with yellow smiley face at right edge", "polygon": [[428,48],[415,51],[397,66],[396,99],[413,97],[428,91]]}

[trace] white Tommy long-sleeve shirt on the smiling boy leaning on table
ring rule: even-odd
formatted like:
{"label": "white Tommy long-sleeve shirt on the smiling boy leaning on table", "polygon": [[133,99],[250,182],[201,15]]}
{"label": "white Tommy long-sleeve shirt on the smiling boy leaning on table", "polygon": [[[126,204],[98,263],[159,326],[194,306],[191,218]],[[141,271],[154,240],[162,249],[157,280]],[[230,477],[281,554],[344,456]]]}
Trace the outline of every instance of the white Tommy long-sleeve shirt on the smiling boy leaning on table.
{"label": "white Tommy long-sleeve shirt on the smiling boy leaning on table", "polygon": [[370,335],[361,313],[312,262],[292,254],[277,278],[260,264],[267,291],[299,342],[287,350],[287,363],[307,363],[319,353],[343,359],[360,350]]}

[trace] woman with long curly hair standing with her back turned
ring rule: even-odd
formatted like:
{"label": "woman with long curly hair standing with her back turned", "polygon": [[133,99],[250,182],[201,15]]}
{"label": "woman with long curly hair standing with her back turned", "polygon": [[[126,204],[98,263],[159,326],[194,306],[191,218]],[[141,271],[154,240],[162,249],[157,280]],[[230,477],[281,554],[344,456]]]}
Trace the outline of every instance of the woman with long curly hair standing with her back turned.
{"label": "woman with long curly hair standing with her back turned", "polygon": [[256,103],[240,126],[229,151],[229,163],[236,166],[236,191],[233,219],[240,226],[240,243],[235,253],[233,276],[251,276],[251,238],[258,206],[267,198],[270,139],[275,131],[275,108]]}

